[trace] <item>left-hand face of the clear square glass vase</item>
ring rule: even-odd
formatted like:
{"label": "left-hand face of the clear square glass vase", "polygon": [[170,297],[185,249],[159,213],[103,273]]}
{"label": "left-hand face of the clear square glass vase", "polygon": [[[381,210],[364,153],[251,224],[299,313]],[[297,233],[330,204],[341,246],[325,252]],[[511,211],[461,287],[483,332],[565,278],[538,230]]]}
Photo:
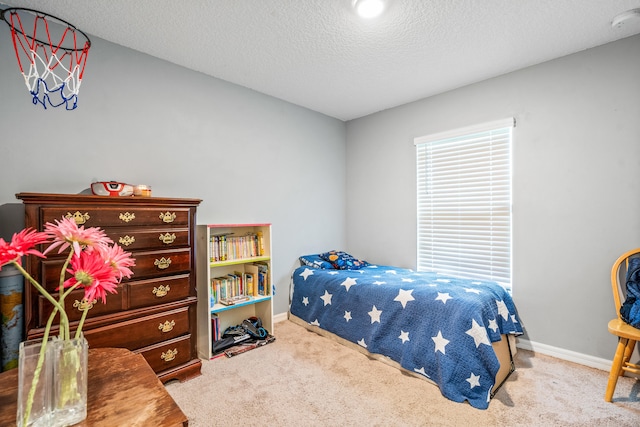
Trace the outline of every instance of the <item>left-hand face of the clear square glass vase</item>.
{"label": "left-hand face of the clear square glass vase", "polygon": [[[51,340],[49,340],[51,343]],[[37,369],[42,340],[20,343],[18,349],[18,427],[51,426],[51,359],[47,357],[49,345],[45,346],[44,359]]]}

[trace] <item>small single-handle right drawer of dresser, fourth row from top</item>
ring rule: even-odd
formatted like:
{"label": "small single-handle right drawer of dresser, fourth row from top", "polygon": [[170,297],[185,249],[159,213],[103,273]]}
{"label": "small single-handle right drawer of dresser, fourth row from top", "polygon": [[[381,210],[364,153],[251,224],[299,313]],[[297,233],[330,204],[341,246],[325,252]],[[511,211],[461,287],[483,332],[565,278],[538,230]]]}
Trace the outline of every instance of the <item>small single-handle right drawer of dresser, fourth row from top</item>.
{"label": "small single-handle right drawer of dresser, fourth row from top", "polygon": [[[135,277],[135,276],[134,276]],[[163,277],[127,283],[128,309],[178,301],[189,296],[191,276]]]}

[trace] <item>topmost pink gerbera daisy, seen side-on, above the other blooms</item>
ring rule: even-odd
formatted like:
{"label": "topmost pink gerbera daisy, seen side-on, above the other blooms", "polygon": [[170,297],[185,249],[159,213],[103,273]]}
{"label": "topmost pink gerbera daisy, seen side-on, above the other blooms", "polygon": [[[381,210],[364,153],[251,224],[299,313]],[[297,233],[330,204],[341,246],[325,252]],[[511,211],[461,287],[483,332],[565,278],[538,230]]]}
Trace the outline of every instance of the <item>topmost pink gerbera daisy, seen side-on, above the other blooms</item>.
{"label": "topmost pink gerbera daisy, seen side-on, above the other blooms", "polygon": [[45,225],[44,232],[53,238],[53,243],[44,251],[45,254],[58,246],[60,247],[58,253],[72,246],[76,256],[79,256],[83,247],[98,247],[113,243],[100,228],[78,227],[73,218],[62,218],[61,221],[55,221],[56,224],[48,222]]}

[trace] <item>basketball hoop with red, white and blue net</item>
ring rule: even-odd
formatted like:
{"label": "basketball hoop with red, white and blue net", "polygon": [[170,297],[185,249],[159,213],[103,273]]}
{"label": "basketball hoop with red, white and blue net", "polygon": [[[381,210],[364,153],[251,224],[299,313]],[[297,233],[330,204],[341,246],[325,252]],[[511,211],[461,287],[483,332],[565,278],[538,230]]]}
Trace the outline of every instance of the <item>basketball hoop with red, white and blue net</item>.
{"label": "basketball hoop with red, white and blue net", "polygon": [[75,109],[89,37],[68,22],[33,9],[12,7],[1,11],[0,17],[11,27],[18,67],[33,104]]}

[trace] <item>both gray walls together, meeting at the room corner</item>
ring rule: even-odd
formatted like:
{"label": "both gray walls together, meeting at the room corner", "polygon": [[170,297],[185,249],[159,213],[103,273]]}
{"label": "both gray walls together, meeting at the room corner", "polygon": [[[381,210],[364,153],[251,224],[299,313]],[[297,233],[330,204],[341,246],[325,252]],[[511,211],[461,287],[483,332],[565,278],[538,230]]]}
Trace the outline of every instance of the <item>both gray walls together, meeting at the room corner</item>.
{"label": "both gray walls together, meeting at the room corner", "polygon": [[415,266],[418,136],[514,116],[514,298],[525,338],[609,359],[609,269],[640,246],[640,36],[348,122],[92,37],[75,111],[31,104],[0,25],[0,237],[15,193],[93,180],[273,223],[275,313],[298,255]]}

